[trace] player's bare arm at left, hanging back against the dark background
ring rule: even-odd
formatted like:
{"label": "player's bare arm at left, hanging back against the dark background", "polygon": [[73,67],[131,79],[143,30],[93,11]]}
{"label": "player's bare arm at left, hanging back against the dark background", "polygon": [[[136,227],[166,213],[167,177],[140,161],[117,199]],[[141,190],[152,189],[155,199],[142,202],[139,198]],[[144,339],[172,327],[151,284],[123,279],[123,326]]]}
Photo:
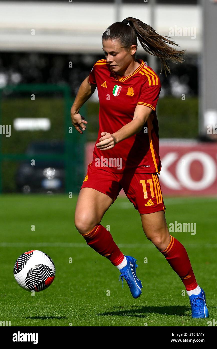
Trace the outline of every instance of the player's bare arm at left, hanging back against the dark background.
{"label": "player's bare arm at left, hanging back against the dark background", "polygon": [[82,128],[84,131],[86,128],[85,124],[87,124],[87,121],[83,116],[79,114],[79,110],[80,107],[82,107],[82,105],[87,101],[87,99],[90,98],[90,96],[92,96],[93,92],[96,89],[96,86],[90,85],[88,83],[88,77],[89,76],[87,76],[86,79],[80,85],[77,95],[75,97],[75,101],[71,107],[72,125],[81,134],[83,134],[83,132],[80,128]]}

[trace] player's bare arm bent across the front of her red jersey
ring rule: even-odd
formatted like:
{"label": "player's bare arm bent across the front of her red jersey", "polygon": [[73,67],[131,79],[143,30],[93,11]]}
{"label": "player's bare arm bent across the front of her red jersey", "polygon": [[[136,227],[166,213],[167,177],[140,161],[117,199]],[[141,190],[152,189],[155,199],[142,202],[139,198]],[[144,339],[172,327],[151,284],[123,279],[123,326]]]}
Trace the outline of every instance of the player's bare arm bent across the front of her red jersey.
{"label": "player's bare arm bent across the front of her red jersey", "polygon": [[128,124],[124,125],[117,132],[110,134],[109,132],[102,132],[99,143],[96,147],[101,150],[108,150],[115,146],[116,143],[123,141],[126,138],[141,131],[142,127],[149,118],[152,109],[145,105],[137,105],[133,115],[133,120]]}

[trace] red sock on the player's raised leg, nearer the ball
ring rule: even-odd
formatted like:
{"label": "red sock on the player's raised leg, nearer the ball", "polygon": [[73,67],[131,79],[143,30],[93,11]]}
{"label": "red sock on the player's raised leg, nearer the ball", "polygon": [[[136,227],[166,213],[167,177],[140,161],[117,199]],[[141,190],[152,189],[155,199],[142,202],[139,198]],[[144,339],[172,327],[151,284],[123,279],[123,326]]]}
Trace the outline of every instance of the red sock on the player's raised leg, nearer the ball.
{"label": "red sock on the player's raised leg, nearer the ball", "polygon": [[81,235],[85,238],[87,245],[103,257],[108,258],[113,265],[116,266],[123,261],[123,253],[114,242],[110,232],[103,225],[97,224],[90,232]]}

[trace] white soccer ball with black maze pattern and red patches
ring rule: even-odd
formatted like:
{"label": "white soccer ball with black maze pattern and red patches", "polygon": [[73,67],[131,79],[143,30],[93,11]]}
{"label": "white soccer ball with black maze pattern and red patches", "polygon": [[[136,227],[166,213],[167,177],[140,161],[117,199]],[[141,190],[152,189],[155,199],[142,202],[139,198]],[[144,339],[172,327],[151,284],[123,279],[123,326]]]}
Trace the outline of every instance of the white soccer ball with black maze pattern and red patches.
{"label": "white soccer ball with black maze pattern and red patches", "polygon": [[14,277],[27,291],[46,289],[54,281],[55,273],[52,259],[38,250],[21,254],[14,265]]}

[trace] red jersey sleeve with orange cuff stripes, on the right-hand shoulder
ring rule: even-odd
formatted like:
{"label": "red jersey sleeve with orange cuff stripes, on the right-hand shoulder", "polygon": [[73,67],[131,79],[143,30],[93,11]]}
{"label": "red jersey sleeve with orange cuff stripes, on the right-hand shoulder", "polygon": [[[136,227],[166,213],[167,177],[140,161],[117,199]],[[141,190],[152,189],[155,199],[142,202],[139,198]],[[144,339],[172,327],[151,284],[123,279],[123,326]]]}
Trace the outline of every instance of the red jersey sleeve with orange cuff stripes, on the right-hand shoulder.
{"label": "red jersey sleeve with orange cuff stripes, on the right-hand shoulder", "polygon": [[[155,82],[156,83],[156,82]],[[152,110],[156,109],[157,101],[161,92],[161,82],[158,78],[158,84],[150,85],[147,80],[141,87],[137,105],[145,105]]]}

